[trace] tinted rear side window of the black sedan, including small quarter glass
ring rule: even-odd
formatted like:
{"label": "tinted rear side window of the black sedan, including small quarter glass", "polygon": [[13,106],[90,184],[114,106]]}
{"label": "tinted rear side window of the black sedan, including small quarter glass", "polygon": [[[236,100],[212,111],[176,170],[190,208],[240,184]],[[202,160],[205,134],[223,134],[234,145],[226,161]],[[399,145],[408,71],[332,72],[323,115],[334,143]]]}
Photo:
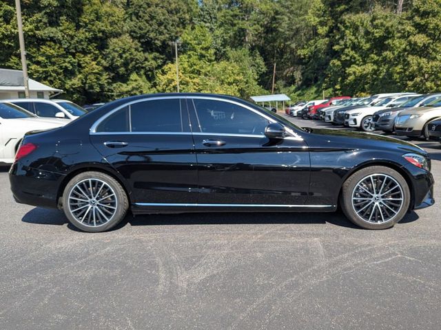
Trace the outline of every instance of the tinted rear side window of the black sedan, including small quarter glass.
{"label": "tinted rear side window of the black sedan, including small quarter glass", "polygon": [[181,102],[163,99],[137,102],[105,118],[97,132],[182,132]]}

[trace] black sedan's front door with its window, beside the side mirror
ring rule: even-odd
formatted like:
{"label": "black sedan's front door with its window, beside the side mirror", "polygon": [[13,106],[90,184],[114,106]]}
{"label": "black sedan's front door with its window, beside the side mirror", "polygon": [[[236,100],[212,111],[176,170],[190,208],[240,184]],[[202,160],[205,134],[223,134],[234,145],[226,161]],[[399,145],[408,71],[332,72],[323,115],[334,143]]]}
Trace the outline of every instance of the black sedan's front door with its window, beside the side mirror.
{"label": "black sedan's front door with its window, beside the side mirror", "polygon": [[275,120],[233,100],[189,100],[198,160],[199,203],[302,205],[309,190],[309,153],[292,135],[269,140]]}

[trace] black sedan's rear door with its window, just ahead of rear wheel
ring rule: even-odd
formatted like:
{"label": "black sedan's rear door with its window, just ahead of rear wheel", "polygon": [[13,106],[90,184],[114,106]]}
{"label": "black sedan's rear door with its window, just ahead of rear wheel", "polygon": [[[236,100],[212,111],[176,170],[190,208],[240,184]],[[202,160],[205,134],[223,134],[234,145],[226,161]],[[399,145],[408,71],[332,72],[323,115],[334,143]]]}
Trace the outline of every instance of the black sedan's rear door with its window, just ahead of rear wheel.
{"label": "black sedan's rear door with its window, just ahead of rear wheel", "polygon": [[185,100],[147,98],[97,122],[90,140],[132,188],[132,201],[196,203],[196,154]]}

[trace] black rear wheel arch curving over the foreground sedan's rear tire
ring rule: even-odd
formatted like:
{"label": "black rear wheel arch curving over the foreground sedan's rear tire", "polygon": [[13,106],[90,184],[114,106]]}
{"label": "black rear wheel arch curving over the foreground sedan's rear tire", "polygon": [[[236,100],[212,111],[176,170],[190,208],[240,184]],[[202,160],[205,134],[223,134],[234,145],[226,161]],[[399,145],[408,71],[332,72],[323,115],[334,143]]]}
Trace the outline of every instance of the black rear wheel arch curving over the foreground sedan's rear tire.
{"label": "black rear wheel arch curving over the foreground sedan's rear tire", "polygon": [[62,199],[63,199],[62,197],[65,186],[67,186],[68,182],[72,179],[72,177],[75,177],[76,175],[79,175],[80,173],[84,173],[84,172],[100,172],[110,175],[110,177],[113,177],[123,187],[125,194],[127,195],[127,199],[129,200],[129,208],[130,208],[130,205],[132,203],[132,194],[130,187],[127,186],[125,182],[125,179],[121,177],[121,175],[118,172],[116,172],[116,170],[113,170],[112,168],[106,166],[101,166],[99,164],[88,164],[81,167],[76,167],[72,169],[68,173],[68,175],[65,175],[65,177],[63,177],[63,180],[61,181],[61,184],[59,185],[59,189],[57,192],[57,205],[59,208],[62,207]]}

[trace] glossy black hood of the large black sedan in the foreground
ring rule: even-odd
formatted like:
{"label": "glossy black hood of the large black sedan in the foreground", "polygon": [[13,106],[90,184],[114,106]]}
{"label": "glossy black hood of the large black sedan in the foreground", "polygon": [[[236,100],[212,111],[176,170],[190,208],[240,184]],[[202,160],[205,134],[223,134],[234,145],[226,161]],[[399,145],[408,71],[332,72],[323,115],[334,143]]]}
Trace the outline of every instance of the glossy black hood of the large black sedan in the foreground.
{"label": "glossy black hood of the large black sedan in the foreground", "polygon": [[305,131],[315,135],[322,135],[327,138],[328,142],[334,142],[341,144],[344,142],[345,145],[353,146],[354,148],[362,148],[363,146],[378,146],[378,148],[383,149],[394,149],[400,148],[404,152],[420,153],[428,157],[428,153],[424,151],[423,148],[411,144],[409,142],[396,139],[395,137],[387,137],[384,135],[378,135],[373,133],[362,133],[355,131],[345,131],[342,129],[311,129],[309,127],[303,128]]}

